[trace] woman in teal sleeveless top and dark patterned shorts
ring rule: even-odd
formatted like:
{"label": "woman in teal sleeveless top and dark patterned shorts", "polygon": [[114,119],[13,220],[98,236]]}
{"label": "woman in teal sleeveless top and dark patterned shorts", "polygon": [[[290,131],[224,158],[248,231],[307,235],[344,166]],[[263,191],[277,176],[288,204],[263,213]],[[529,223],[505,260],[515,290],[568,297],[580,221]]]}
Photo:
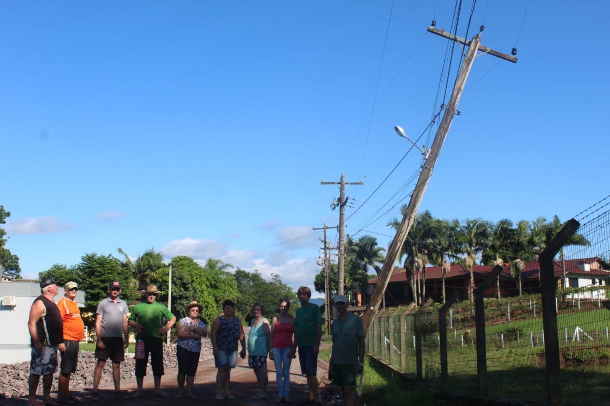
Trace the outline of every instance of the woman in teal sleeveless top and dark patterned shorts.
{"label": "woman in teal sleeveless top and dark patterned shorts", "polygon": [[267,399],[267,354],[271,344],[271,328],[269,320],[263,317],[262,304],[254,303],[252,315],[248,334],[248,365],[254,369],[259,384],[259,391],[253,398]]}

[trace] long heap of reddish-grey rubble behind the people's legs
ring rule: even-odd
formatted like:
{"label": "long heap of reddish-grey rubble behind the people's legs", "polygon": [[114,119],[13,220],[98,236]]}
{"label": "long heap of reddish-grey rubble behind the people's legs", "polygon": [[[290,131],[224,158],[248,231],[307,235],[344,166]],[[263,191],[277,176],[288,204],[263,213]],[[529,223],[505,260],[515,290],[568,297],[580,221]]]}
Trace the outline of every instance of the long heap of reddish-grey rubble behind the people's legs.
{"label": "long heap of reddish-grey rubble behind the people's legs", "polygon": [[[125,361],[121,363],[121,387],[127,387],[135,383],[135,359],[134,354],[126,354]],[[61,362],[61,356],[59,363]],[[212,358],[212,343],[209,339],[202,340],[200,359]],[[93,370],[95,369],[96,359],[93,352],[79,352],[79,361],[76,374],[70,378],[70,390],[85,391],[93,388]],[[110,360],[104,366],[104,373],[99,382],[99,388],[112,387],[112,363]],[[166,345],[163,347],[163,366],[165,369],[178,369],[176,360],[176,345]],[[27,380],[30,374],[30,363],[19,362],[14,364],[0,364],[0,398],[27,396]],[[147,376],[152,376],[150,362],[146,371]],[[59,376],[59,365],[54,374],[53,387],[51,391],[57,390],[57,377]],[[42,381],[42,380],[41,380]],[[39,383],[39,393],[42,391],[42,382]]]}

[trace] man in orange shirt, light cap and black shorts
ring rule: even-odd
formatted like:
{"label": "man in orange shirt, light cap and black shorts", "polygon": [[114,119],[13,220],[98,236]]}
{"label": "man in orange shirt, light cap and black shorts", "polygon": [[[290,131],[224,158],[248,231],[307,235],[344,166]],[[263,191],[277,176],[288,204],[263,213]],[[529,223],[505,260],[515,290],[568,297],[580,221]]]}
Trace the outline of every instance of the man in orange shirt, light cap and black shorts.
{"label": "man in orange shirt, light cap and black shorts", "polygon": [[76,303],[78,284],[68,282],[64,287],[63,298],[57,302],[59,313],[63,320],[63,343],[65,351],[62,352],[62,366],[59,375],[59,399],[62,404],[73,404],[77,399],[70,396],[70,374],[76,373],[79,343],[85,338],[85,324],[82,322],[81,310]]}

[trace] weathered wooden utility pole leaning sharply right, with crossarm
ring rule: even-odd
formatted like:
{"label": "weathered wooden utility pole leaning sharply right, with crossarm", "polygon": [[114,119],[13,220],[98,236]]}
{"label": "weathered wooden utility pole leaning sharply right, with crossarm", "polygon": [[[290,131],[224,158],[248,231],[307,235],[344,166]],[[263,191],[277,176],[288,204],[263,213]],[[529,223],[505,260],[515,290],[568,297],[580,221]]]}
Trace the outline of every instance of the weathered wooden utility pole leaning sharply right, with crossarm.
{"label": "weathered wooden utility pole leaning sharply right, with crossarm", "polygon": [[[483,30],[483,26],[481,26],[481,31]],[[491,54],[495,57],[502,58],[504,60],[508,60],[511,62],[517,62],[517,58],[511,55],[502,54],[498,51],[493,51],[493,49],[489,49],[481,45],[481,32],[476,34],[471,41],[466,40],[465,38],[456,37],[455,35],[446,32],[445,30],[439,30],[434,27],[428,27],[428,32],[440,35],[441,37],[448,38],[449,40],[456,41],[459,44],[464,44],[468,46],[468,52],[466,53],[466,57],[464,58],[464,63],[462,64],[462,68],[459,72],[458,79],[456,79],[456,83],[453,88],[453,93],[451,93],[451,99],[449,99],[449,103],[446,107],[445,113],[443,114],[443,118],[440,121],[440,125],[438,130],[436,131],[436,135],[434,136],[434,142],[432,142],[432,147],[430,148],[430,153],[428,159],[426,159],[423,164],[422,172],[420,172],[420,177],[417,180],[417,184],[415,185],[415,189],[412,192],[411,200],[409,200],[409,206],[407,206],[407,210],[404,213],[403,220],[398,227],[396,235],[392,240],[392,244],[387,252],[386,261],[384,261],[383,268],[381,269],[381,273],[379,273],[379,277],[377,279],[377,284],[375,285],[375,290],[373,290],[373,295],[371,295],[370,302],[368,303],[367,309],[364,312],[364,316],[362,317],[362,322],[364,324],[364,331],[368,332],[371,325],[373,324],[373,320],[375,320],[375,315],[377,310],[379,309],[379,304],[381,304],[381,299],[386,292],[386,287],[388,282],[390,281],[390,277],[392,276],[392,270],[394,268],[394,262],[396,261],[398,254],[400,253],[400,249],[403,246],[404,240],[409,234],[409,230],[415,220],[415,215],[417,214],[417,210],[419,208],[420,203],[422,203],[423,194],[426,191],[426,186],[428,186],[428,181],[432,176],[432,170],[434,170],[434,165],[436,164],[436,159],[439,158],[440,149],[443,146],[443,142],[445,142],[445,138],[447,137],[447,132],[449,131],[449,127],[451,125],[451,121],[453,120],[453,116],[456,113],[458,108],[459,99],[462,96],[462,92],[464,91],[464,85],[466,83],[466,79],[468,78],[468,74],[470,73],[470,69],[472,68],[472,64],[475,61],[477,51],[483,51],[484,54]],[[516,50],[513,50],[516,53]]]}

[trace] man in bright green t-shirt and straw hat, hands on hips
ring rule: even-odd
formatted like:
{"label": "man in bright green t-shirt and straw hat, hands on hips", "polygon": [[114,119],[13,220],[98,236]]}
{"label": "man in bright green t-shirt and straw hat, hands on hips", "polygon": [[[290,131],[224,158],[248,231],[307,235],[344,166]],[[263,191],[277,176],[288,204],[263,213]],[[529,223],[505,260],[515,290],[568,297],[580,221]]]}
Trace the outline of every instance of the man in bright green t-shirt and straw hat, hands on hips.
{"label": "man in bright green t-shirt and straw hat, hands on hips", "polygon": [[[146,300],[136,304],[129,316],[129,326],[137,333],[137,340],[144,340],[144,359],[135,360],[135,380],[138,390],[132,397],[142,397],[142,385],[146,376],[148,354],[151,355],[152,376],[154,376],[154,390],[157,396],[168,397],[161,391],[161,376],[163,376],[163,338],[176,323],[176,316],[162,304],[156,302],[159,290],[154,285],[148,285],[145,292]],[[163,326],[163,318],[167,324]]]}

